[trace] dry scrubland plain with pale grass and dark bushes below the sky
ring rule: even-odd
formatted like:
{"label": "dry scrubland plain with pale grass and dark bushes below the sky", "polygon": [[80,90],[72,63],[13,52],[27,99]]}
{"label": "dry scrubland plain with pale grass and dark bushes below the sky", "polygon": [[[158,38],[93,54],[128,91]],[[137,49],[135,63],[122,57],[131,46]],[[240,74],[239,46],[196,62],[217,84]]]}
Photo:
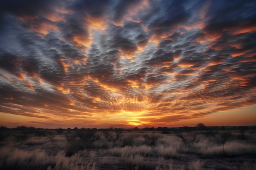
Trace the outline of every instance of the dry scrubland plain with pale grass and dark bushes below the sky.
{"label": "dry scrubland plain with pale grass and dark bushes below the sky", "polygon": [[0,130],[6,170],[256,170],[254,127]]}

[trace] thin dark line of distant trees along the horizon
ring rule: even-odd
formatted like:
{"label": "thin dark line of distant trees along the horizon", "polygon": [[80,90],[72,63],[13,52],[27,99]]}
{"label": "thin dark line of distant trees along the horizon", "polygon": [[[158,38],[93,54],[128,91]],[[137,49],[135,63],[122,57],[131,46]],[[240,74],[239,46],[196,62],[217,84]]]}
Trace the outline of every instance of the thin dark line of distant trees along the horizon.
{"label": "thin dark line of distant trees along the horizon", "polygon": [[18,130],[18,131],[37,131],[37,130],[55,130],[57,132],[63,132],[65,131],[176,131],[176,130],[182,130],[182,131],[190,131],[190,130],[256,130],[256,126],[184,126],[184,127],[178,127],[178,128],[167,128],[167,127],[158,127],[158,128],[56,128],[56,129],[49,129],[49,128],[35,128],[32,126],[17,126],[16,128],[7,128],[5,126],[0,127],[0,131],[2,130]]}

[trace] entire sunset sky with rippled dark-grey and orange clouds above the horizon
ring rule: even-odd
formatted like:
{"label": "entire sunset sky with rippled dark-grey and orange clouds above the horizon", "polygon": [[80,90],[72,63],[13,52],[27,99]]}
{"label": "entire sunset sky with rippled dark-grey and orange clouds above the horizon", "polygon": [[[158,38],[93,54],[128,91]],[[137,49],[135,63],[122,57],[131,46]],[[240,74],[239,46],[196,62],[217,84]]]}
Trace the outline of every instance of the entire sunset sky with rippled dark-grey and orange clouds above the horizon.
{"label": "entire sunset sky with rippled dark-grey and orange clouds above the horizon", "polygon": [[254,0],[2,0],[0,125],[256,125]]}

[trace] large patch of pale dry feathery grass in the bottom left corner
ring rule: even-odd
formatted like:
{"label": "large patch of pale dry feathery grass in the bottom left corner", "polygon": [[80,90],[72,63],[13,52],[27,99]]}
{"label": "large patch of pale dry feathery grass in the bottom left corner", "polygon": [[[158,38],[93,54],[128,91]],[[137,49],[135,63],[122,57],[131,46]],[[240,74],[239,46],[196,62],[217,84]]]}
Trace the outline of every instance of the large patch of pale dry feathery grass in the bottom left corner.
{"label": "large patch of pale dry feathery grass in the bottom left corner", "polygon": [[[61,150],[57,155],[48,155],[44,150],[19,150],[14,149],[5,152],[2,169],[38,169],[38,170],[95,170],[96,163],[85,161],[79,154],[72,157],[65,157],[65,151]],[[1,157],[3,159],[3,157]]]}

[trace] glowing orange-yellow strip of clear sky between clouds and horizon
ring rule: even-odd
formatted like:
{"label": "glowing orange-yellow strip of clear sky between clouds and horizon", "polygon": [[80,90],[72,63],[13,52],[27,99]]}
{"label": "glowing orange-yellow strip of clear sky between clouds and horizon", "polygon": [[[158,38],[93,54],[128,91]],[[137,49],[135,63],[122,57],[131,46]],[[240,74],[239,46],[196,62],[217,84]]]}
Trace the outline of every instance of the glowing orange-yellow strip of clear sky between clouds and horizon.
{"label": "glowing orange-yellow strip of clear sky between clouds and horizon", "polygon": [[[13,128],[17,126],[34,126],[36,128],[46,128],[45,125],[47,125],[47,128],[109,128],[111,126],[114,126],[115,128],[145,128],[145,127],[183,127],[185,126],[195,126],[198,124],[198,122],[203,122],[206,126],[246,126],[246,125],[255,125],[255,119],[256,115],[254,114],[254,110],[256,109],[256,105],[250,106],[247,108],[240,108],[233,109],[230,111],[224,111],[224,112],[216,112],[212,113],[211,115],[204,117],[204,118],[197,118],[197,119],[184,119],[182,121],[173,121],[169,124],[163,124],[160,123],[153,123],[152,121],[141,121],[140,119],[143,117],[140,117],[139,115],[133,117],[132,119],[124,120],[124,117],[127,117],[129,114],[133,115],[132,112],[130,113],[123,113],[121,114],[120,118],[117,118],[117,116],[114,116],[116,118],[103,118],[102,120],[99,120],[99,122],[102,122],[104,119],[104,124],[96,123],[97,121],[92,121],[90,125],[84,124],[82,119],[69,119],[68,121],[65,119],[59,119],[58,117],[51,119],[50,121],[42,118],[28,118],[27,116],[22,115],[12,115],[7,113],[1,113],[1,125],[6,126],[8,128]],[[247,114],[247,117],[244,117],[240,113],[243,112],[244,114]],[[142,114],[142,113],[141,113]],[[123,115],[123,116],[122,116]],[[223,116],[226,115],[226,116]],[[230,117],[232,115],[232,118]],[[111,121],[111,119],[114,119]],[[117,120],[115,120],[117,119]],[[151,118],[154,119],[154,118]],[[237,119],[239,119],[239,123],[237,122]],[[12,120],[12,122],[9,122]],[[3,124],[3,122],[6,122]],[[26,123],[24,123],[26,122]],[[56,124],[56,122],[59,122]],[[117,125],[116,122],[119,122]],[[228,123],[227,123],[228,122]]]}

